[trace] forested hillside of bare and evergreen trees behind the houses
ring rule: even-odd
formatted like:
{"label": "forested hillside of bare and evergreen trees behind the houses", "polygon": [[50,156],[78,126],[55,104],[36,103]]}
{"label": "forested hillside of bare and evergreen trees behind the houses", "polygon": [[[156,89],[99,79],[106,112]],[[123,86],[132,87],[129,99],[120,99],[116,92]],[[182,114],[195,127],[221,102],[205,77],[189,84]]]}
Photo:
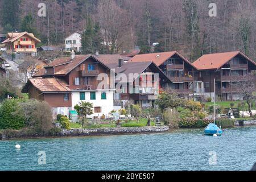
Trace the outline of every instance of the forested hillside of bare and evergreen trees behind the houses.
{"label": "forested hillside of bare and evergreen trees behind the houses", "polygon": [[[37,15],[40,2],[46,3],[46,17]],[[43,44],[63,44],[65,36],[85,30],[89,24],[99,26],[104,32],[101,39],[113,43],[114,48],[105,53],[121,53],[134,46],[149,52],[152,43],[158,42],[155,51],[180,51],[190,60],[234,50],[256,60],[256,1],[216,0],[217,17],[208,14],[211,2],[1,0],[0,20],[4,32],[30,30]]]}

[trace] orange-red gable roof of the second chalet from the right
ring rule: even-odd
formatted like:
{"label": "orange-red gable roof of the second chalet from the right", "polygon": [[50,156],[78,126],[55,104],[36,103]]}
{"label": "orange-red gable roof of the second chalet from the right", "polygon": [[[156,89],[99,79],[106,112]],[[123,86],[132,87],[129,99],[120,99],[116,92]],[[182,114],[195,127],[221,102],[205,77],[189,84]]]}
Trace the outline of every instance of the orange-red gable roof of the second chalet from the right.
{"label": "orange-red gable roof of the second chalet from the right", "polygon": [[194,67],[192,65],[192,63],[190,63],[187,59],[185,59],[185,57],[183,57],[177,51],[146,53],[146,54],[143,54],[143,55],[136,55],[133,58],[131,58],[129,61],[131,61],[131,62],[153,61],[159,67],[160,65],[162,65],[164,63],[164,61],[167,61],[168,59],[170,59],[170,57],[174,56],[175,54],[178,55],[179,57],[181,57],[181,59],[183,59],[189,65]]}

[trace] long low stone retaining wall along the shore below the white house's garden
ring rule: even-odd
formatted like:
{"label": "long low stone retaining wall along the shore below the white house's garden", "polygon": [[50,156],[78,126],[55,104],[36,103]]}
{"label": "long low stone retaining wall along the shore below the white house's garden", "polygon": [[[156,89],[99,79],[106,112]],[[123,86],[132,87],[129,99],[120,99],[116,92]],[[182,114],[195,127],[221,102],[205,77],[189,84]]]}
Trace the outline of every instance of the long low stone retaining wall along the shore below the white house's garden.
{"label": "long low stone retaining wall along the shore below the white house's garden", "polygon": [[136,134],[136,133],[160,133],[168,131],[169,126],[156,127],[115,127],[100,129],[71,129],[61,130],[61,136],[92,136],[92,135],[115,135],[115,134]]}

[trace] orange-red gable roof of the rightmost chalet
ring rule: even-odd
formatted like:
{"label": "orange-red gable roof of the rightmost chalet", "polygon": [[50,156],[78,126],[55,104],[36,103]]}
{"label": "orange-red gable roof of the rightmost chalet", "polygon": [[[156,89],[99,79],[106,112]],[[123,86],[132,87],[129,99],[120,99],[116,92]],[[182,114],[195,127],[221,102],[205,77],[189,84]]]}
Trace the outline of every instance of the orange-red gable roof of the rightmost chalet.
{"label": "orange-red gable roof of the rightmost chalet", "polygon": [[232,60],[237,55],[241,55],[245,57],[247,60],[249,60],[254,65],[255,62],[251,60],[249,57],[244,55],[240,51],[233,51],[233,52],[221,52],[221,53],[211,53],[208,55],[203,55],[197,59],[193,65],[197,69],[219,69],[224,64],[226,64],[228,61]]}

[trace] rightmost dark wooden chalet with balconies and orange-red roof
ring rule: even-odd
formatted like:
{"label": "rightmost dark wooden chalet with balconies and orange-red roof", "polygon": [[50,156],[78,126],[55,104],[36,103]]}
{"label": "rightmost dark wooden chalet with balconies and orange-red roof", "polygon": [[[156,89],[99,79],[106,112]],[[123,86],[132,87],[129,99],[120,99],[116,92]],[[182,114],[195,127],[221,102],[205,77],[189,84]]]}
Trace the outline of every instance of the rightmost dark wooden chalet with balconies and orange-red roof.
{"label": "rightmost dark wooden chalet with balconies and orange-red roof", "polygon": [[[247,75],[256,70],[256,64],[242,52],[223,52],[203,55],[193,65],[195,72],[195,98],[214,99],[214,79],[216,94],[222,100],[243,100],[236,83],[249,79]],[[256,77],[252,76],[256,80]],[[250,76],[251,79],[251,76]]]}

